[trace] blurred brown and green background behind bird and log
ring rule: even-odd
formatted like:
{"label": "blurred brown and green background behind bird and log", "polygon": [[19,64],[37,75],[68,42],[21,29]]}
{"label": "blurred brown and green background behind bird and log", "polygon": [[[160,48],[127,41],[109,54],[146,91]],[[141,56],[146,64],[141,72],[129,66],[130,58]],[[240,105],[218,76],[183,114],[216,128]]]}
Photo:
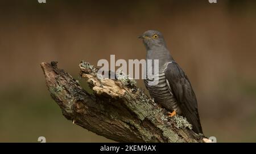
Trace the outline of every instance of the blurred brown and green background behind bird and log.
{"label": "blurred brown and green background behind bird and log", "polygon": [[255,1],[46,1],[0,3],[0,142],[113,142],[63,117],[40,63],[79,79],[81,60],[144,59],[148,29],[191,80],[205,135],[256,142]]}

